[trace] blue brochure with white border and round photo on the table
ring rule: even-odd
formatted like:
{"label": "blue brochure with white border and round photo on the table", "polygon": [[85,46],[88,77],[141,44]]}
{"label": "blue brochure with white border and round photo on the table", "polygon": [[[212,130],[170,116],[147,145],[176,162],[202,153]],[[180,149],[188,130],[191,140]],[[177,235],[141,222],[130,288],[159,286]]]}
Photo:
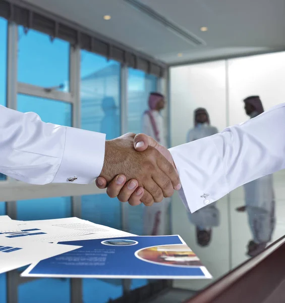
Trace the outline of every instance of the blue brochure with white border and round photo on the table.
{"label": "blue brochure with white border and round photo on the table", "polygon": [[178,235],[131,236],[60,242],[82,246],[33,263],[22,277],[210,279]]}

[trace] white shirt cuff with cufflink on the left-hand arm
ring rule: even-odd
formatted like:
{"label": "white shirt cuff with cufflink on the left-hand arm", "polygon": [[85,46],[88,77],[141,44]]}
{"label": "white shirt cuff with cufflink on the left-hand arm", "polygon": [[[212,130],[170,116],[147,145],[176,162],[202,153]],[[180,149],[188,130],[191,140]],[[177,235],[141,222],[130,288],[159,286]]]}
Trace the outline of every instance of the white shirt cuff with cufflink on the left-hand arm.
{"label": "white shirt cuff with cufflink on the left-hand arm", "polygon": [[102,133],[66,127],[64,155],[52,183],[94,181],[103,168],[105,137]]}

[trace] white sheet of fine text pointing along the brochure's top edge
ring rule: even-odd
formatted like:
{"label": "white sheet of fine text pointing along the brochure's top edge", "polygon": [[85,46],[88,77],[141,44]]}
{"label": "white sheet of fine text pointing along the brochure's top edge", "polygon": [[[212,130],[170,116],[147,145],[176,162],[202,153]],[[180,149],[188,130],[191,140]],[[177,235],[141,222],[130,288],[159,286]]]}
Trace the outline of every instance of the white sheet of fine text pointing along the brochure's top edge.
{"label": "white sheet of fine text pointing along the brochure's top edge", "polygon": [[66,228],[68,230],[74,230],[78,232],[83,232],[84,234],[75,235],[72,239],[59,240],[59,241],[69,241],[69,240],[88,240],[88,239],[103,239],[111,237],[126,237],[134,236],[134,234],[111,228],[108,226],[92,223],[90,221],[82,220],[79,218],[63,218],[63,219],[53,219],[53,220],[39,220],[30,221],[31,224],[37,226],[53,226],[57,228]]}

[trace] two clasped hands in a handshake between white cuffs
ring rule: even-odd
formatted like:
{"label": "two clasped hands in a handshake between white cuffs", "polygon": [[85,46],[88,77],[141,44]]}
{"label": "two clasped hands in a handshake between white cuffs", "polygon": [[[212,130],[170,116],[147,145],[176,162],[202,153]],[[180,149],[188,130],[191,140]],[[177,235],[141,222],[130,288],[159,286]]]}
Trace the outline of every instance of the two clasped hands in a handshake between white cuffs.
{"label": "two clasped hands in a handshake between white cuffs", "polygon": [[106,141],[98,188],[132,206],[151,206],[170,197],[181,183],[169,150],[145,134],[128,133]]}

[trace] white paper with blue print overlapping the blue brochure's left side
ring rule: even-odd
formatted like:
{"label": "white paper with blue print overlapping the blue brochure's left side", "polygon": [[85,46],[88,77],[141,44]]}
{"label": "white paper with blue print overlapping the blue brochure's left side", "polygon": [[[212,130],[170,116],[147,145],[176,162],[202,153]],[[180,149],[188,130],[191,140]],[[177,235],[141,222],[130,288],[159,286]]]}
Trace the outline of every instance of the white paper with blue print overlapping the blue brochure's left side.
{"label": "white paper with blue print overlapping the blue brochure's left side", "polygon": [[0,274],[80,247],[35,242],[20,243],[19,241],[0,238]]}

